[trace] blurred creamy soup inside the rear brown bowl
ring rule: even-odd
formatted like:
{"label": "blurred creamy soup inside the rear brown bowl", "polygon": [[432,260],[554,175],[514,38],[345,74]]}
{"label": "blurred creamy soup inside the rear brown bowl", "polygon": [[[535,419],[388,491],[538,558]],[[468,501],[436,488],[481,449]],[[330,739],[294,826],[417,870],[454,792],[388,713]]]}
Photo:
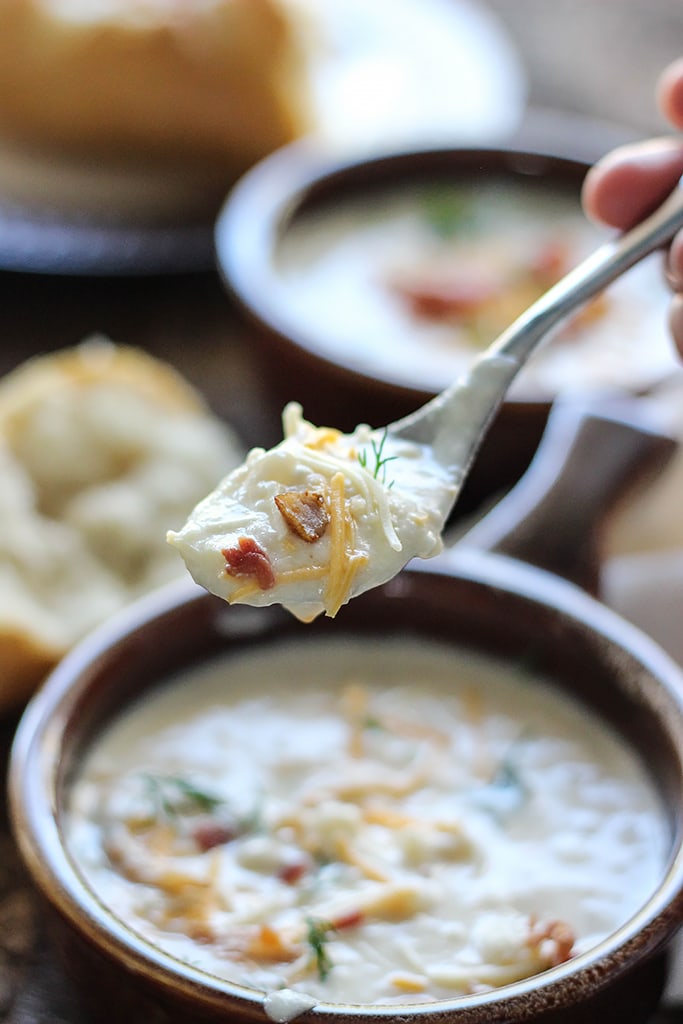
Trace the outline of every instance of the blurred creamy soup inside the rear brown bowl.
{"label": "blurred creamy soup inside the rear brown bowl", "polygon": [[[288,224],[271,299],[323,356],[441,391],[605,238],[578,197],[533,178],[376,191]],[[641,388],[672,372],[667,309],[653,256],[535,353],[511,394]]]}

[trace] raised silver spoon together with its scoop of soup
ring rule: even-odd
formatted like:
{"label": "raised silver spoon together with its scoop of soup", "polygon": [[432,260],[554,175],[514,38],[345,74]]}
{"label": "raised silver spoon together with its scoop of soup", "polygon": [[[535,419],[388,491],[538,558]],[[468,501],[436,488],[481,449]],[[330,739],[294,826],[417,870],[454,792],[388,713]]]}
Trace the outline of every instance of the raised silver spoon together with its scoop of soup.
{"label": "raised silver spoon together with its scoop of soup", "polygon": [[[321,450],[318,431],[300,419],[297,407],[285,440],[269,453],[253,450],[244,466],[197,506],[181,530],[169,531],[169,542],[195,580],[219,597],[247,604],[279,602],[306,622],[322,611],[336,614],[351,597],[386,583],[414,556],[435,554],[479,444],[537,345],[680,227],[682,182],[655,213],[602,246],[539,299],[452,387],[383,429],[368,433],[368,427],[358,427]],[[390,480],[384,476],[387,463]],[[332,522],[331,509],[337,525],[330,525],[330,536],[323,527],[310,544],[292,544],[289,535],[283,543],[287,516],[278,498],[282,501],[295,483],[300,500],[303,494],[310,501],[304,471],[317,481],[312,497],[325,507],[326,526]],[[334,507],[333,498],[326,505],[317,495],[321,479],[330,488],[337,481]],[[349,503],[355,499],[359,503],[351,513]],[[297,515],[303,512],[288,514],[298,532]]]}

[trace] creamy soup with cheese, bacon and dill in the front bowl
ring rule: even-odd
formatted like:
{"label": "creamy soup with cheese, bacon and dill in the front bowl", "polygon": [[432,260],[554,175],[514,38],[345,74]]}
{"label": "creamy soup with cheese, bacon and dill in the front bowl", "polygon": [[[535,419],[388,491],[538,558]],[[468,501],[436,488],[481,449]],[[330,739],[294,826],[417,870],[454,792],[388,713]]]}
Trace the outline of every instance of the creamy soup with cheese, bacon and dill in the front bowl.
{"label": "creamy soup with cheese, bacon and dill in the front bowl", "polygon": [[408,638],[291,642],[171,681],[96,739],[66,835],[116,915],[262,991],[274,1020],[543,972],[628,921],[667,847],[602,722]]}

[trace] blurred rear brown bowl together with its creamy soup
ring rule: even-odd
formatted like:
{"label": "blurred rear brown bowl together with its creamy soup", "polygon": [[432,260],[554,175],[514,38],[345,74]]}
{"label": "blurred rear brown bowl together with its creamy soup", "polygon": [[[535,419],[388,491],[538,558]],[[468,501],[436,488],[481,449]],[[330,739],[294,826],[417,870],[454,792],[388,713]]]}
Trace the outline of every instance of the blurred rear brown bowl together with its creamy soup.
{"label": "blurred rear brown bowl together with its creamy soup", "polygon": [[[318,424],[381,426],[446,387],[603,240],[581,209],[588,166],[514,147],[340,164],[301,142],[254,168],[216,244],[275,406],[294,398]],[[637,391],[673,368],[658,265],[609,295],[520,375],[459,511],[518,479],[558,394]]]}

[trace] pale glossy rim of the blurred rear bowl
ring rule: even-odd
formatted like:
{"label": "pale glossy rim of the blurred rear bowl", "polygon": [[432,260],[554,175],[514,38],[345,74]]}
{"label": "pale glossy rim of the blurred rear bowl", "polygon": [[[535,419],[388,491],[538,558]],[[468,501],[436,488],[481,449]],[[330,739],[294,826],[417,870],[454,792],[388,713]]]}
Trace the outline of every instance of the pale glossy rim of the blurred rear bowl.
{"label": "pale glossy rim of the blurred rear bowl", "polygon": [[[481,145],[424,145],[343,158],[326,153],[308,138],[299,139],[270,154],[246,172],[232,186],[214,225],[214,250],[219,274],[228,294],[246,318],[275,347],[292,346],[300,357],[314,360],[331,377],[356,388],[390,389],[401,401],[419,404],[434,390],[420,382],[410,384],[394,377],[391,367],[382,373],[338,359],[315,344],[310,329],[292,318],[286,303],[279,302],[272,254],[288,224],[309,204],[319,202],[341,186],[340,195],[353,195],[356,183],[396,183],[420,179],[430,170],[441,174],[454,165],[458,175],[472,171],[495,177],[512,172],[520,179],[543,174],[548,168],[577,186],[591,167],[581,154],[566,147],[514,139]],[[386,177],[384,177],[386,175]],[[547,394],[511,394],[506,406],[519,410],[543,409]]]}

